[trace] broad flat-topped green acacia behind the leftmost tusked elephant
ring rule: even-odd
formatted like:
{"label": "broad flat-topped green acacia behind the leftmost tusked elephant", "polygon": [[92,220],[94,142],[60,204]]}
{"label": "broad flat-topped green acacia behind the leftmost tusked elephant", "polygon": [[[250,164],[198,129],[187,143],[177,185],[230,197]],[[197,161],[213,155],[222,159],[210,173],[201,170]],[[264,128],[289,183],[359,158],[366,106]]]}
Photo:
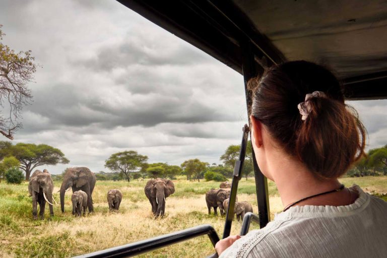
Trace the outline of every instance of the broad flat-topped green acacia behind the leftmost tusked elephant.
{"label": "broad flat-topped green acacia behind the leftmost tusked elephant", "polygon": [[26,173],[26,180],[30,179],[32,170],[42,165],[67,164],[70,162],[57,148],[46,144],[18,143],[16,145],[0,142],[0,157],[14,156],[20,162],[20,168]]}

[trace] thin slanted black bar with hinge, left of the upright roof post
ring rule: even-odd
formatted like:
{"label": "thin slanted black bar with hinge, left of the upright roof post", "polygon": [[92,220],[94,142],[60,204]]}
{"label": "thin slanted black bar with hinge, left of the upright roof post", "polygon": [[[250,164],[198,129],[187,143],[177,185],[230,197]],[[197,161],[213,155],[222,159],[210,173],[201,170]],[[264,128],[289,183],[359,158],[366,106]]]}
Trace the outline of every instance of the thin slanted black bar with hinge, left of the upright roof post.
{"label": "thin slanted black bar with hinge, left of the upright roof post", "polygon": [[226,213],[226,221],[224,223],[222,238],[228,237],[231,232],[231,224],[232,224],[232,220],[234,219],[236,192],[238,190],[239,180],[240,178],[242,178],[242,167],[243,167],[244,157],[246,156],[248,132],[249,132],[248,125],[245,124],[243,126],[243,136],[242,136],[242,142],[240,144],[239,159],[235,162],[234,174],[233,174],[232,183],[231,183],[230,200],[228,202],[228,209]]}

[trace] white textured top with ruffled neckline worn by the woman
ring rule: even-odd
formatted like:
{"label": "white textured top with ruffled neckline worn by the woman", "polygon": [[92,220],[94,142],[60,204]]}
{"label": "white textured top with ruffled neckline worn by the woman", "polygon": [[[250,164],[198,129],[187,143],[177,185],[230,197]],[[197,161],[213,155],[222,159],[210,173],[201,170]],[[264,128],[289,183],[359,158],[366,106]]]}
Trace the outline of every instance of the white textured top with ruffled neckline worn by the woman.
{"label": "white textured top with ruffled neckline worn by the woman", "polygon": [[252,230],[220,255],[224,257],[387,257],[387,202],[359,186],[347,206],[295,206]]}

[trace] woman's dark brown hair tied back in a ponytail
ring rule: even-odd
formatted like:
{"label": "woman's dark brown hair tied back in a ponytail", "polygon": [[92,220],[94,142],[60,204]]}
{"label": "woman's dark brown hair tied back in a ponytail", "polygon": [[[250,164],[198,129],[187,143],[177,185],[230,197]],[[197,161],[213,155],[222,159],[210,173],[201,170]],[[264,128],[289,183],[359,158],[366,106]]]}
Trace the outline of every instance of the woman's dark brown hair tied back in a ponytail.
{"label": "woman's dark brown hair tied back in a ponytail", "polygon": [[[318,178],[337,178],[364,155],[365,128],[357,112],[344,103],[342,85],[326,68],[307,61],[286,62],[251,79],[248,87],[251,115]],[[314,91],[327,97],[310,98],[311,111],[302,121],[297,105]]]}

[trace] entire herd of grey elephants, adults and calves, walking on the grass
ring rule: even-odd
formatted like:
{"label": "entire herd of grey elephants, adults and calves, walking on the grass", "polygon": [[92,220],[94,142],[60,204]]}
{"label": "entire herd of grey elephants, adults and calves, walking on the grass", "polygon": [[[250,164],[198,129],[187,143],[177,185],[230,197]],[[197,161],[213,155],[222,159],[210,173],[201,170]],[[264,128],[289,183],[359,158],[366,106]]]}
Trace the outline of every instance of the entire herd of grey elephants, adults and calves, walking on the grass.
{"label": "entire herd of grey elephants, adults and calves, walking on the grass", "polygon": [[[87,167],[73,167],[68,168],[64,172],[63,181],[60,185],[60,209],[64,213],[64,193],[72,188],[73,195],[71,201],[73,203],[73,215],[81,216],[82,213],[86,215],[86,209],[89,213],[94,211],[92,193],[94,190],[96,177],[93,172]],[[51,174],[44,169],[43,172],[35,170],[30,177],[28,184],[28,191],[32,196],[32,216],[37,219],[37,205],[40,206],[39,216],[44,217],[44,210],[46,202],[49,205],[50,216],[54,215],[53,199],[54,184]],[[220,214],[223,216],[228,207],[228,201],[231,191],[229,182],[222,182],[220,189],[211,189],[206,193],[206,203],[208,214],[211,214],[211,208],[214,209],[217,215],[217,208],[219,207]],[[147,182],[144,188],[145,196],[148,198],[152,206],[152,213],[157,217],[162,217],[165,214],[166,198],[175,192],[175,186],[171,180],[168,179],[151,179]],[[107,192],[107,202],[109,211],[118,211],[119,205],[122,201],[122,193],[118,189],[111,189]],[[238,200],[237,200],[238,201]],[[237,219],[243,219],[246,212],[252,212],[251,205],[247,202],[236,202],[234,213]]]}

